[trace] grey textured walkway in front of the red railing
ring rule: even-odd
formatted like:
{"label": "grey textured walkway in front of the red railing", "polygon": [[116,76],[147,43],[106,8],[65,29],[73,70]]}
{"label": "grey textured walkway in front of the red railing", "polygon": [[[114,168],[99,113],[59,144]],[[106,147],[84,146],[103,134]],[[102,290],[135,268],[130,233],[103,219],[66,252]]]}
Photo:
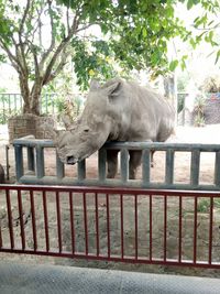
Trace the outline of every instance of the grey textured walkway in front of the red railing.
{"label": "grey textured walkway in front of the red railing", "polygon": [[219,294],[220,280],[0,263],[0,294]]}

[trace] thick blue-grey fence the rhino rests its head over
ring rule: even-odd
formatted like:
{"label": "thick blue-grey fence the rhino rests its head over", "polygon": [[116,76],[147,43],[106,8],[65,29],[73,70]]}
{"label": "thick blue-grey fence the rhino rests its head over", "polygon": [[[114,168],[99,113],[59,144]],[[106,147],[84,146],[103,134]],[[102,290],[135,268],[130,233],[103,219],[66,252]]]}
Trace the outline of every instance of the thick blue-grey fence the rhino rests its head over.
{"label": "thick blue-grey fence the rhino rests its head over", "polygon": [[[14,140],[13,145],[15,150],[16,181],[22,184],[220,189],[220,144],[108,142],[98,152],[96,161],[97,175],[92,176],[88,176],[90,159],[79,162],[76,165],[77,167],[64,165],[59,161],[54,143],[51,140],[37,140],[33,137],[26,137]],[[26,156],[24,150],[26,151]],[[119,156],[121,163],[119,173],[117,178],[113,179],[107,178],[107,150],[119,150],[121,154]],[[142,166],[138,179],[129,179],[130,150],[142,152]],[[151,166],[152,152],[155,152],[155,155],[157,153],[161,154],[155,160],[155,167]],[[178,156],[184,166],[178,166]],[[210,170],[205,166],[204,171],[201,171],[204,156],[208,156]],[[52,165],[54,173],[52,173]],[[184,178],[175,178],[178,170],[180,170]],[[152,175],[155,171],[161,173],[162,178],[153,178]],[[188,179],[185,176],[187,173]],[[211,174],[211,181],[207,182],[207,177]]]}

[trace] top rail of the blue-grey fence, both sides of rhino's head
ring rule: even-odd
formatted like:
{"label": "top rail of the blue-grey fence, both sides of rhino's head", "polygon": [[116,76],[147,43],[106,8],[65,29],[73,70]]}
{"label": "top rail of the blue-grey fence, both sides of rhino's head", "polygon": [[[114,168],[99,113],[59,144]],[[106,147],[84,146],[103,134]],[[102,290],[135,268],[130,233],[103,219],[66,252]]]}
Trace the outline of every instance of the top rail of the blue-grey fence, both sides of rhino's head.
{"label": "top rail of the blue-grey fence, both sides of rhino's head", "polygon": [[[35,139],[33,135],[28,135],[20,139],[13,140],[14,145],[22,146],[42,146],[42,148],[54,148],[55,143],[53,140],[45,139]],[[217,152],[220,151],[220,144],[200,144],[200,143],[165,143],[165,142],[107,142],[103,145],[105,149],[113,150],[113,149],[129,149],[129,150],[157,150],[157,151],[166,151],[167,149],[172,149],[175,151],[208,151],[208,152]]]}

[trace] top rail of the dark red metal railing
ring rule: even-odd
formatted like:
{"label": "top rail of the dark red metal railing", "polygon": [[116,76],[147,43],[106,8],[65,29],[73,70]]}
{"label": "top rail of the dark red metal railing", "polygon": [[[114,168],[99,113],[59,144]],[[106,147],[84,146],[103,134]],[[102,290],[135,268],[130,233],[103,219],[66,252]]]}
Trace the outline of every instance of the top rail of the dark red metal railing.
{"label": "top rail of the dark red metal railing", "polygon": [[59,193],[103,193],[120,195],[157,195],[157,196],[186,196],[186,197],[220,197],[220,190],[170,190],[143,189],[130,187],[98,187],[98,186],[46,186],[46,185],[0,185],[0,190],[32,190]]}

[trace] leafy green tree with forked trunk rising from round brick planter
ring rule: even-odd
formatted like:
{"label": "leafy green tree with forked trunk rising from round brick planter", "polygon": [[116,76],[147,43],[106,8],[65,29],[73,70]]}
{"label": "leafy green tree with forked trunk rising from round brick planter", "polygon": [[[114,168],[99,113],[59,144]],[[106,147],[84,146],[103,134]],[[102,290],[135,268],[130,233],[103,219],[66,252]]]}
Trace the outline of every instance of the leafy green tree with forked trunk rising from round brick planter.
{"label": "leafy green tree with forked trunk rising from round brick planter", "polygon": [[[123,75],[147,68],[157,76],[174,70],[178,61],[167,61],[169,40],[194,40],[175,15],[176,2],[0,0],[0,59],[10,61],[18,72],[24,113],[40,115],[42,88],[63,70],[68,56],[84,89],[94,75],[110,77],[119,70]],[[212,1],[184,2],[190,9]],[[219,8],[218,1],[213,2],[205,9]]]}

